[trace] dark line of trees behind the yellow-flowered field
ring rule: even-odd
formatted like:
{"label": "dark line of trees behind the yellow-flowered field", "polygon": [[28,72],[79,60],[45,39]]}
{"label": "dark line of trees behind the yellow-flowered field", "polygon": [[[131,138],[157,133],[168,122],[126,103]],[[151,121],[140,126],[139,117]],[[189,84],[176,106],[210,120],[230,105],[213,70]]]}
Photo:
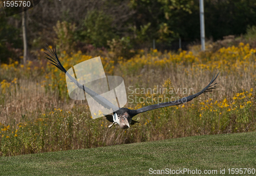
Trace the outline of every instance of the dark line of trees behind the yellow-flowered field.
{"label": "dark line of trees behind the yellow-flowered field", "polygon": [[[255,1],[204,0],[204,11],[206,37],[214,40],[244,34],[256,24]],[[30,50],[58,41],[67,50],[86,52],[90,45],[127,52],[153,39],[166,45],[200,39],[198,0],[45,0],[27,14]],[[6,17],[1,4],[1,61],[22,52],[22,15]]]}

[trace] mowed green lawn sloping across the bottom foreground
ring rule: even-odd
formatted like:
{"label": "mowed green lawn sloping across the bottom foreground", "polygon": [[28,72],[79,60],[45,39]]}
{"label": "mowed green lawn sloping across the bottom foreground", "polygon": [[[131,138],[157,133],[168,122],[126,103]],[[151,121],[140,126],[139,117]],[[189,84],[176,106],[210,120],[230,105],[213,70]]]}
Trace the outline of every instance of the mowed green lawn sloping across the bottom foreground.
{"label": "mowed green lawn sloping across the bottom foreground", "polygon": [[204,170],[217,170],[220,175],[220,168],[225,168],[225,175],[234,175],[228,174],[228,168],[256,169],[256,133],[0,157],[0,175],[152,175],[150,168],[200,169],[201,175]]}

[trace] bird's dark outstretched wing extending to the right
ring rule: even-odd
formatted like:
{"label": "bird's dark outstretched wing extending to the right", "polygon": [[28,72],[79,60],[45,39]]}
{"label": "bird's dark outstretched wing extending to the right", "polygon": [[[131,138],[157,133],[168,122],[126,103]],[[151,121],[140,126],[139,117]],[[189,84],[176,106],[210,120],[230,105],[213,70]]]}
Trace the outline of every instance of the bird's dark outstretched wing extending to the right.
{"label": "bird's dark outstretched wing extending to the right", "polygon": [[[218,75],[219,75],[219,73],[218,73]],[[149,106],[146,106],[146,107],[142,107],[142,108],[139,108],[137,110],[134,110],[134,114],[144,113],[146,111],[151,111],[153,109],[157,109],[157,108],[161,108],[161,107],[179,105],[179,104],[191,101],[191,100],[193,100],[194,98],[198,97],[199,95],[201,95],[203,93],[212,92],[212,90],[217,88],[215,86],[217,83],[215,83],[215,84],[212,84],[212,83],[216,80],[218,75],[216,77],[214,76],[211,79],[210,83],[206,87],[204,87],[204,89],[202,91],[200,91],[199,93],[184,97],[184,98],[176,100],[176,101],[170,101],[170,102],[165,102],[165,103],[154,104],[154,105],[149,105]]]}

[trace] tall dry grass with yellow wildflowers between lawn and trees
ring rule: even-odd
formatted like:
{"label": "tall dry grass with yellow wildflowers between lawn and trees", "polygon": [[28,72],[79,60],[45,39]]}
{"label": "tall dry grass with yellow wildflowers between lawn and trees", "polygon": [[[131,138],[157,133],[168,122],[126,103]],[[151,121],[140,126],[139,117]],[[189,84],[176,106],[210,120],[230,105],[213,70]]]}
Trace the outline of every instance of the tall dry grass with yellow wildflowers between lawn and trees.
{"label": "tall dry grass with yellow wildflowers between lawn and trees", "polygon": [[[20,65],[2,64],[0,69],[0,153],[20,155],[67,149],[90,148],[194,135],[253,131],[255,125],[256,50],[248,45],[222,48],[217,52],[160,53],[152,50],[114,65],[102,58],[107,75],[122,76],[127,96],[184,97],[184,93],[138,94],[132,90],[154,87],[193,88],[208,84],[215,73],[218,90],[188,103],[155,109],[134,118],[139,124],[123,130],[108,128],[105,118],[93,120],[87,101],[71,100],[65,74],[41,57]],[[81,52],[59,53],[66,69],[92,58]],[[129,88],[130,86],[130,88]],[[191,94],[191,93],[190,93]],[[130,101],[130,100],[128,100]],[[139,108],[151,101],[127,103]]]}

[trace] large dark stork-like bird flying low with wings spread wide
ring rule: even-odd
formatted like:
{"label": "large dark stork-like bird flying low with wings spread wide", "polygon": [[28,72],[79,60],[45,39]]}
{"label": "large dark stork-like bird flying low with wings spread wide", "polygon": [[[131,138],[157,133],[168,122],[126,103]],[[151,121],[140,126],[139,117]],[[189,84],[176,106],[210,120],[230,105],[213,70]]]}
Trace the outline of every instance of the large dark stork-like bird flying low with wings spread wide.
{"label": "large dark stork-like bird flying low with wings spread wide", "polygon": [[[46,48],[47,49],[47,48]],[[48,49],[47,49],[48,50]],[[176,101],[170,101],[170,102],[164,102],[164,103],[159,103],[159,104],[154,104],[154,105],[148,105],[139,109],[129,109],[129,108],[125,108],[125,107],[116,107],[115,105],[113,105],[109,100],[105,99],[104,97],[98,95],[97,93],[95,93],[94,91],[90,90],[88,87],[80,84],[78,81],[76,81],[75,78],[73,78],[67,71],[65,68],[63,68],[62,64],[60,63],[58,56],[56,54],[56,47],[55,47],[55,51],[54,49],[50,49],[50,51],[48,50],[48,52],[50,53],[47,54],[49,57],[46,57],[47,59],[49,59],[51,62],[51,64],[55,65],[55,67],[57,67],[59,70],[61,70],[62,72],[66,73],[66,75],[70,78],[71,82],[75,83],[79,89],[82,89],[84,92],[88,93],[95,101],[97,101],[99,104],[101,104],[102,106],[104,106],[105,108],[108,109],[112,109],[113,110],[113,115],[104,115],[106,117],[107,120],[109,120],[110,122],[112,122],[111,125],[109,125],[109,128],[113,125],[113,124],[119,124],[119,126],[123,129],[125,128],[129,128],[130,125],[134,125],[135,123],[139,123],[135,120],[132,120],[132,118],[140,113],[144,113],[147,111],[151,111],[153,109],[157,109],[157,108],[161,108],[161,107],[166,107],[166,106],[174,106],[174,105],[179,105],[182,103],[186,103],[188,101],[193,100],[194,98],[198,97],[199,95],[203,94],[203,93],[207,93],[207,92],[212,92],[212,90],[216,89],[216,84],[213,84],[214,81],[216,80],[216,78],[218,77],[219,73],[217,74],[217,76],[212,77],[210,83],[204,87],[204,89],[194,95],[190,95],[187,97],[183,97],[179,100]]]}

